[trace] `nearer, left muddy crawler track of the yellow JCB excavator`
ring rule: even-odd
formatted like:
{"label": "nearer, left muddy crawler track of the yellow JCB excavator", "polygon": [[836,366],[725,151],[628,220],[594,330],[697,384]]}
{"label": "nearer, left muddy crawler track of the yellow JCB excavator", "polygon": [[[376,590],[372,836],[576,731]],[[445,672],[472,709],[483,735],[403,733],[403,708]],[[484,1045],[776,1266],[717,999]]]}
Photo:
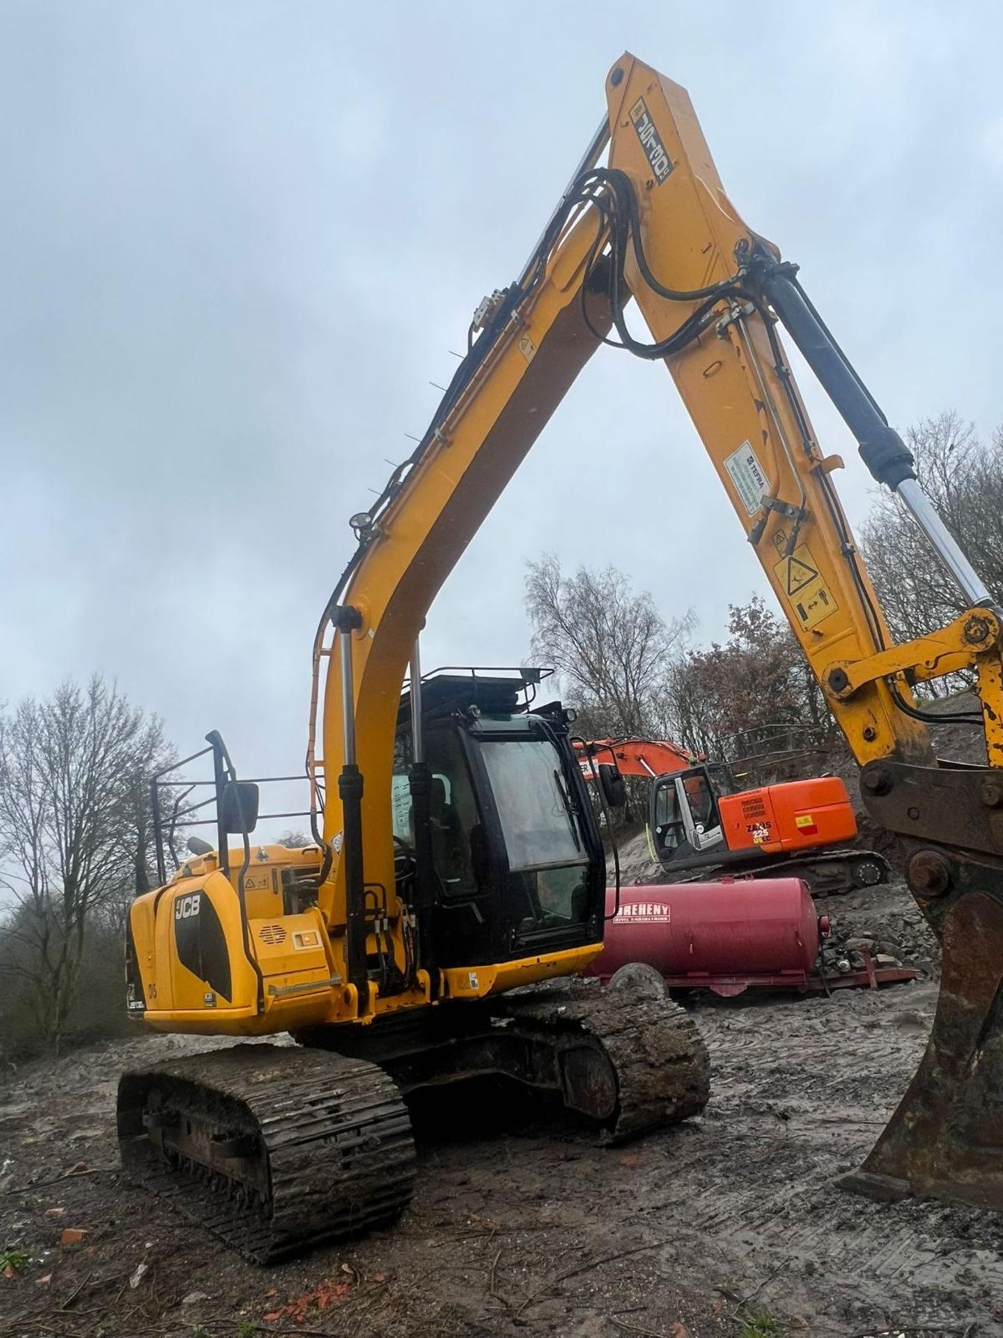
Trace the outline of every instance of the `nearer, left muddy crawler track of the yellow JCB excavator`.
{"label": "nearer, left muddy crawler track of the yellow JCB excavator", "polygon": [[119,1081],[122,1160],[253,1263],[386,1226],[415,1177],[411,1119],[376,1064],[237,1045]]}

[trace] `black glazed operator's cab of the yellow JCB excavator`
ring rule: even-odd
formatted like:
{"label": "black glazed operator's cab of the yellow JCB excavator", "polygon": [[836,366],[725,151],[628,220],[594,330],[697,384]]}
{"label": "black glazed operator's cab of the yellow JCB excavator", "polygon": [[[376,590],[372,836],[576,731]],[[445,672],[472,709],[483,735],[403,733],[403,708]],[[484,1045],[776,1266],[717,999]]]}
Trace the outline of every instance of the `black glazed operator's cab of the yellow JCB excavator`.
{"label": "black glazed operator's cab of the yellow JCB excavator", "polygon": [[[534,678],[535,678],[534,672]],[[503,962],[602,937],[602,844],[560,702],[532,708],[534,678],[440,672],[421,684],[421,751],[436,955]],[[399,888],[420,879],[411,693],[393,759]]]}

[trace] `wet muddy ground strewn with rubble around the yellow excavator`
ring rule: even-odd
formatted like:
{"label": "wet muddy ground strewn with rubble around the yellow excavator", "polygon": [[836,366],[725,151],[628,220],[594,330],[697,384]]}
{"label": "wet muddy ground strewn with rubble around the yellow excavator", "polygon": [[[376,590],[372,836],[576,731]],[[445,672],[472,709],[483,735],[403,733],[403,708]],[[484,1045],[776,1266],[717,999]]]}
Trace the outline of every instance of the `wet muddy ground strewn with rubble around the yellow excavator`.
{"label": "wet muddy ground strewn with rubble around the yellow excavator", "polygon": [[[929,955],[901,887],[825,909]],[[393,1230],[265,1270],[116,1168],[119,1069],[211,1042],[135,1040],[7,1072],[0,1243],[24,1258],[0,1278],[0,1338],[1003,1334],[999,1219],[830,1184],[895,1107],[935,998],[924,978],[699,999],[706,1115],[626,1148],[540,1109],[500,1128],[496,1101],[457,1108],[453,1093],[423,1113],[415,1204]],[[67,1227],[87,1235],[59,1244]]]}

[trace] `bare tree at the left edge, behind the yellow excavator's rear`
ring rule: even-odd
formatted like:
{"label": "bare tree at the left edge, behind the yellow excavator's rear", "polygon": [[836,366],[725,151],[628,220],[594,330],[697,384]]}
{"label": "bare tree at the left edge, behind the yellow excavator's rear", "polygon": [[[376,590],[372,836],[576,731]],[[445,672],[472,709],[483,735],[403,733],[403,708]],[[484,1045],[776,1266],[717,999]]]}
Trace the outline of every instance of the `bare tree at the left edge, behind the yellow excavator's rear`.
{"label": "bare tree at the left edge, behind the yellow excavator's rear", "polygon": [[39,1032],[58,1046],[88,926],[148,886],[146,777],[169,748],[155,717],[95,676],[0,714],[0,887]]}

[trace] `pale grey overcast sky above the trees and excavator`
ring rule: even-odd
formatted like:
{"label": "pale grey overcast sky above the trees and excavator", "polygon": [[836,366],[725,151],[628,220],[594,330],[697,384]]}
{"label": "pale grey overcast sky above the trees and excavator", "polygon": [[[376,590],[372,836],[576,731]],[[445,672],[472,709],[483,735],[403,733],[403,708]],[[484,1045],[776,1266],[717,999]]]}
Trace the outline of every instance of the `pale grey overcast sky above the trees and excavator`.
{"label": "pale grey overcast sky above the trees and excavator", "polygon": [[[0,697],[116,676],[187,752],[298,768],[361,510],[511,281],[623,48],[904,428],[1003,419],[1003,7],[0,0]],[[855,520],[869,479],[804,384]],[[562,487],[555,487],[555,483]],[[765,582],[665,371],[603,351],[424,662],[518,664],[527,558],[719,636]]]}

